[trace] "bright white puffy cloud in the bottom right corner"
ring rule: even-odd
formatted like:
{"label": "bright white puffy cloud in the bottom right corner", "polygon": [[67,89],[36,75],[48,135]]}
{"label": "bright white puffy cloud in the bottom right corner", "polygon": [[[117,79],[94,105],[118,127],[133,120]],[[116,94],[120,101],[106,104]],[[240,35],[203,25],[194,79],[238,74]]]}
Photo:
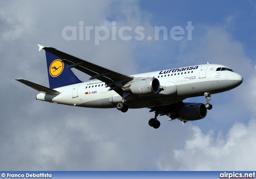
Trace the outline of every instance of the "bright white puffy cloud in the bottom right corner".
{"label": "bright white puffy cloud in the bottom right corner", "polygon": [[[159,161],[161,170],[190,171],[252,171],[255,169],[256,120],[248,124],[235,123],[227,133],[217,137],[213,131],[202,133],[199,127],[192,127],[191,139],[184,149],[174,150],[174,159],[169,157]],[[172,157],[172,156],[170,156]],[[167,163],[167,164],[166,164]],[[178,168],[176,166],[179,166]]]}

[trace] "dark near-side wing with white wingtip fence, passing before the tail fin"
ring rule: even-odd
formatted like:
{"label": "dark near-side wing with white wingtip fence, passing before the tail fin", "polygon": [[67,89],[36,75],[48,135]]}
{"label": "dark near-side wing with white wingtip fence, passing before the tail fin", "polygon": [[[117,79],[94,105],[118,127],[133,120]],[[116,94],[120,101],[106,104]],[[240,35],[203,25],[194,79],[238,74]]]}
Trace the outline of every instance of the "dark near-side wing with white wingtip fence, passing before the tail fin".
{"label": "dark near-side wing with white wingtip fence, passing before the tail fin", "polygon": [[67,64],[68,68],[76,68],[77,70],[80,70],[81,72],[84,72],[90,75],[91,78],[89,80],[98,79],[102,82],[105,82],[107,84],[106,87],[110,87],[110,90],[116,91],[121,96],[123,94],[123,90],[121,89],[121,87],[133,79],[131,76],[126,76],[118,72],[108,70],[101,66],[92,64],[80,58],[61,52],[55,48],[43,47],[40,45],[38,46],[39,46],[39,50],[44,49],[64,59],[62,62]]}

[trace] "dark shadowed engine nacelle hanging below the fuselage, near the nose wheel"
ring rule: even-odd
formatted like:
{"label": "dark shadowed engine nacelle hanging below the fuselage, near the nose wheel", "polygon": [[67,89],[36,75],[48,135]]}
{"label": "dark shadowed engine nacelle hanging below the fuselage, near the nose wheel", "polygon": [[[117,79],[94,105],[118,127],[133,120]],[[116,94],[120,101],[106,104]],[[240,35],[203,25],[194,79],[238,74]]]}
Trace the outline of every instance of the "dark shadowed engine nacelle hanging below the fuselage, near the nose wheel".
{"label": "dark shadowed engine nacelle hanging below the fuselage, near the nose wheel", "polygon": [[178,117],[189,121],[203,119],[206,115],[207,109],[203,103],[191,103],[184,105],[178,111]]}

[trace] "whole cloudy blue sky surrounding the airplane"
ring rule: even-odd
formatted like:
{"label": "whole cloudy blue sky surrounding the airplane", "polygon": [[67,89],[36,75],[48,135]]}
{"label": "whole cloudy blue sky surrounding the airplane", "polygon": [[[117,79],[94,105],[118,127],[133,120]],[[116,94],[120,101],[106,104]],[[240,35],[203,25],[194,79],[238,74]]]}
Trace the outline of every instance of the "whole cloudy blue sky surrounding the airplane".
{"label": "whole cloudy blue sky surrounding the airplane", "polygon": [[[65,40],[63,29],[93,26],[90,40]],[[95,45],[95,27],[112,30]],[[186,26],[192,22],[192,40]],[[126,31],[132,40],[118,38]],[[144,27],[144,40],[135,28]],[[165,26],[168,40],[154,37]],[[185,30],[173,40],[170,30]],[[0,168],[2,170],[194,171],[254,170],[256,149],[256,3],[254,1],[1,1]],[[70,32],[69,32],[70,33]],[[79,34],[79,32],[77,32]],[[111,31],[110,31],[111,34]],[[70,34],[69,34],[70,35]],[[85,32],[84,32],[85,36]],[[104,36],[104,33],[101,34]],[[37,91],[15,78],[48,87],[46,60],[38,46],[68,54],[122,74],[223,64],[244,77],[241,86],[211,97],[213,108],[198,121],[158,117],[159,129],[148,126],[148,109],[87,109],[35,99]],[[89,77],[75,71],[78,78]],[[204,103],[205,98],[186,101]]]}

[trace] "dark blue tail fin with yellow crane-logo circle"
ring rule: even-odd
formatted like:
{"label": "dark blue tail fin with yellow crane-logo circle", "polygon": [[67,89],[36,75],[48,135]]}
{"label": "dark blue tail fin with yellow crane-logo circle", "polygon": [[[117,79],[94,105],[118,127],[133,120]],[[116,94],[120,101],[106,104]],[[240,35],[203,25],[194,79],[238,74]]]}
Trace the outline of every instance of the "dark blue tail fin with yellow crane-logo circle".
{"label": "dark blue tail fin with yellow crane-logo circle", "polygon": [[62,62],[62,58],[47,51],[45,51],[45,54],[49,85],[51,89],[82,83],[71,69],[67,69],[68,65]]}

